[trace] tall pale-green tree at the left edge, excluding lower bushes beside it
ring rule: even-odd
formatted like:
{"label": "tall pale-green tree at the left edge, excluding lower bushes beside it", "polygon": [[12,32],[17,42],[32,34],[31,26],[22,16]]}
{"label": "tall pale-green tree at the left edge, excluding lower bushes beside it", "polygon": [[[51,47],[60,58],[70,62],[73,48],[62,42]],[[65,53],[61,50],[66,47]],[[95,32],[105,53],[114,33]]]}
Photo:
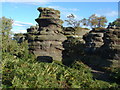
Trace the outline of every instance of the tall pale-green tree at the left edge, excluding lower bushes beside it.
{"label": "tall pale-green tree at the left edge, excluding lower bushes beside it", "polygon": [[13,44],[12,39],[10,38],[11,29],[12,29],[13,20],[9,18],[2,17],[0,18],[0,36],[2,37],[2,51],[10,51],[11,44]]}

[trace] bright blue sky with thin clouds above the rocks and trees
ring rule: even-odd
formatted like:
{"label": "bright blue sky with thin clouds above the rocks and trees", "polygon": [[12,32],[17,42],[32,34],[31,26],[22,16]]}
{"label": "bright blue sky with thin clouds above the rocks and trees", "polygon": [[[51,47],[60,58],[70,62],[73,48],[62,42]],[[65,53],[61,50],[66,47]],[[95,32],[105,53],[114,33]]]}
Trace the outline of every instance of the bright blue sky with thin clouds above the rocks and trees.
{"label": "bright blue sky with thin clouds above the rocks and trees", "polygon": [[[61,19],[74,14],[76,19],[88,18],[92,14],[104,15],[108,22],[118,17],[117,2],[4,2],[2,16],[14,20],[14,33],[24,33],[31,25],[36,25],[35,19],[39,16],[38,7],[50,7],[61,11]],[[66,23],[63,24],[66,26]]]}

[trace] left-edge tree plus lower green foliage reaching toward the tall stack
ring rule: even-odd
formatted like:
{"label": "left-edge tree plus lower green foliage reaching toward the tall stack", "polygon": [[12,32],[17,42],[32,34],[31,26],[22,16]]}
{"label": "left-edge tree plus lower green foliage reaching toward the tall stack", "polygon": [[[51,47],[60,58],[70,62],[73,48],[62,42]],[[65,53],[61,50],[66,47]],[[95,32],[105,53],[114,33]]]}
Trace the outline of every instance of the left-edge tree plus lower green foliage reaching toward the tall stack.
{"label": "left-edge tree plus lower green foliage reaching toward the tall stack", "polygon": [[[9,18],[2,17],[0,19],[2,26],[2,55],[9,53],[11,55],[26,59],[29,55],[28,43],[24,41],[22,43],[17,43],[16,40],[11,38],[11,29],[13,20]],[[23,34],[19,34],[22,37]],[[16,38],[17,39],[17,38]]]}

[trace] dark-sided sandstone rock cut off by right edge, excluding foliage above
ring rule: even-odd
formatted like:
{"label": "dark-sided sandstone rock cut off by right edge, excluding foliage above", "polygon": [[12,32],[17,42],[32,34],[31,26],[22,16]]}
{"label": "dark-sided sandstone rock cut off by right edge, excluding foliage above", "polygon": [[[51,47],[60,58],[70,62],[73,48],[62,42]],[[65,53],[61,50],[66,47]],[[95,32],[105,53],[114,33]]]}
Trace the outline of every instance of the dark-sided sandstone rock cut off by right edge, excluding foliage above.
{"label": "dark-sided sandstone rock cut off by right edge, excluding foliage above", "polygon": [[104,45],[103,45],[105,57],[110,59],[120,60],[120,29],[114,28],[109,29],[104,34]]}

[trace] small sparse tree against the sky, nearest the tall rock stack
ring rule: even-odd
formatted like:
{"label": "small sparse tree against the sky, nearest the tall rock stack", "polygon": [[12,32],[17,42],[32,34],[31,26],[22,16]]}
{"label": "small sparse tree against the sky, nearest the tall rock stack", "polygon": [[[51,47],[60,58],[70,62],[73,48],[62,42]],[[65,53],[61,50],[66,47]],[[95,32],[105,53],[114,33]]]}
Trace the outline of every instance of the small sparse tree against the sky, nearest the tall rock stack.
{"label": "small sparse tree against the sky, nearest the tall rock stack", "polygon": [[65,20],[68,25],[72,25],[73,27],[79,27],[81,20],[76,20],[73,14],[67,16],[68,20]]}

